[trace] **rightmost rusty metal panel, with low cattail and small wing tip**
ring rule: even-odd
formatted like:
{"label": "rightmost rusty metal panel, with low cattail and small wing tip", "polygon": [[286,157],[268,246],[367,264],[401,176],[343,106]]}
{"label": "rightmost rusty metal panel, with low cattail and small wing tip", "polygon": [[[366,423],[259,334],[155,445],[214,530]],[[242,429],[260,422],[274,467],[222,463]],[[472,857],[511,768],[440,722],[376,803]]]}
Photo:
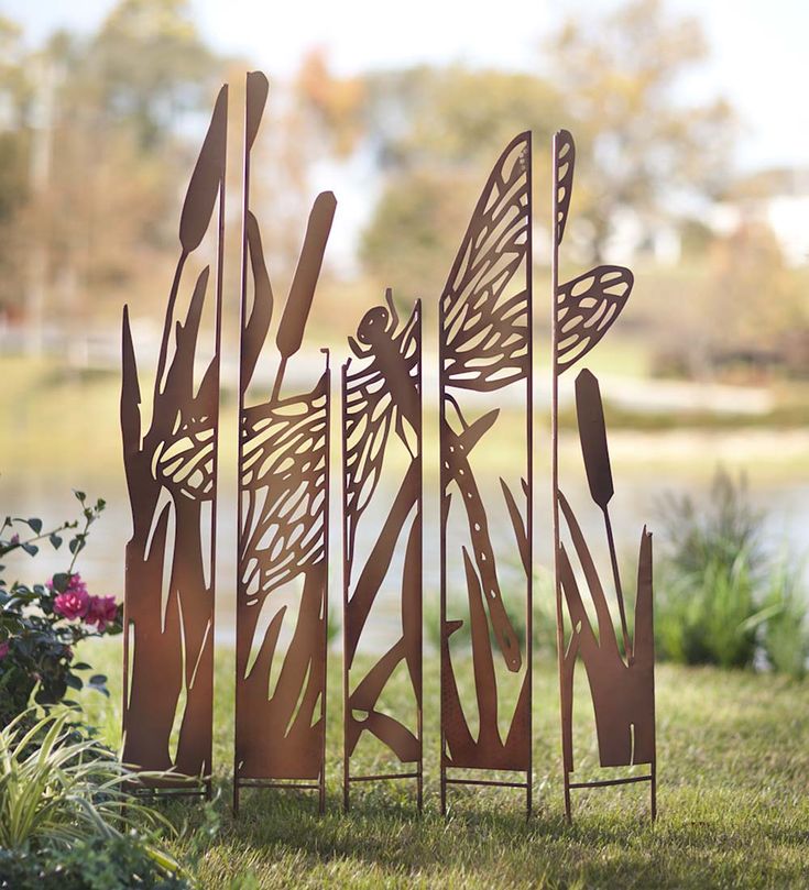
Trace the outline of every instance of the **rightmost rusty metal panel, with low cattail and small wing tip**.
{"label": "rightmost rusty metal panel, with low cattail and small wing tip", "polygon": [[[590,496],[601,510],[610,552],[611,584],[621,624],[615,635],[605,584],[590,548],[559,487],[558,389],[559,375],[586,355],[606,333],[632,290],[632,273],[623,266],[598,266],[565,284],[558,282],[559,245],[570,210],[576,147],[562,130],[554,139],[554,254],[553,254],[553,496],[557,607],[557,645],[561,701],[565,806],[570,817],[570,788],[620,784],[627,779],[570,782],[573,771],[572,703],[577,660],[584,663],[595,714],[599,759],[602,767],[649,763],[652,813],[656,812],[654,628],[652,604],[652,535],[641,535],[634,628],[631,633],[624,605],[610,520],[614,495],[601,393],[595,376],[584,369],[576,378],[576,413]],[[592,602],[598,633],[584,608],[570,553],[561,541],[564,517],[572,552]],[[565,608],[569,633],[565,635]],[[634,777],[628,781],[638,781]]]}

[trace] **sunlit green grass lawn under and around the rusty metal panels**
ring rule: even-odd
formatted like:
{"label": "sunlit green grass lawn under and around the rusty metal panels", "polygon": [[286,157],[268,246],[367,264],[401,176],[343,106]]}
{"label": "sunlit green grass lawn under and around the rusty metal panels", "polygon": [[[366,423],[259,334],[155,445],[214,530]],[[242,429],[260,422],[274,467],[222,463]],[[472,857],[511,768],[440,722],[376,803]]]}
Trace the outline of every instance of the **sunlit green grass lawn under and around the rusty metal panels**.
{"label": "sunlit green grass lawn under and around the rusty metal panels", "polygon": [[[106,670],[112,697],[81,693],[88,718],[119,740],[120,648],[81,652]],[[230,814],[232,653],[217,655],[215,771],[219,828],[200,839],[199,804],[166,804],[181,826],[171,847],[200,855],[204,888],[709,888],[809,887],[809,683],[745,672],[662,666],[657,682],[658,822],[646,784],[573,791],[564,818],[555,664],[538,660],[534,684],[534,815],[520,791],[450,790],[438,812],[438,675],[425,674],[425,813],[412,782],[352,792],[341,811],[339,660],[329,675],[328,803],[324,817],[306,792],[247,791]],[[579,671],[581,673],[581,671]],[[581,679],[581,678],[579,678]],[[595,768],[589,702],[576,701],[577,777]],[[394,766],[373,754],[354,770]]]}

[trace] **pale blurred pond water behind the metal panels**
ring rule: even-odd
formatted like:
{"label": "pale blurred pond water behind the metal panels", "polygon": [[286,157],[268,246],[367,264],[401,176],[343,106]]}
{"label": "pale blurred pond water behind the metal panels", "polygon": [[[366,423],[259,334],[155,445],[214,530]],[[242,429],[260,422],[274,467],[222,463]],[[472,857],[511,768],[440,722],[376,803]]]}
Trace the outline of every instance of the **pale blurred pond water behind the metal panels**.
{"label": "pale blurred pond water behind the metal panels", "polygon": [[[110,443],[110,448],[118,447],[118,442]],[[575,505],[597,561],[603,563],[606,551],[602,517],[589,499],[577,449],[578,443],[566,436],[561,449],[562,488]],[[689,492],[696,497],[704,497],[718,463],[732,472],[746,473],[752,504],[767,510],[765,532],[773,548],[787,548],[798,557],[809,552],[809,437],[796,438],[794,433],[777,431],[769,431],[766,436],[757,431],[690,437],[681,433],[648,433],[643,437],[623,433],[611,437],[611,449],[616,488],[611,505],[612,523],[620,554],[626,558],[627,565],[633,554],[636,558],[643,524],[647,523],[653,531],[656,525],[659,527],[657,520],[662,496],[665,493]],[[426,454],[426,463],[429,464],[429,453]],[[40,516],[46,527],[78,513],[72,486],[80,485],[90,497],[103,496],[107,499],[107,509],[94,528],[86,551],[80,554],[78,568],[91,592],[121,597],[123,551],[131,527],[122,472],[118,476],[110,476],[109,473],[95,473],[88,466],[79,479],[75,474],[68,479],[57,465],[37,472],[12,473],[11,468],[1,465],[0,470],[3,471],[0,476],[0,512],[14,516]],[[550,483],[547,458],[542,450],[537,452],[535,476],[535,564],[547,568],[551,557]],[[332,614],[339,617],[342,584],[339,492],[337,479],[332,482],[330,607]],[[496,477],[482,477],[479,483],[485,496],[501,497]],[[430,611],[429,601],[437,604],[439,580],[437,480],[429,474],[425,477],[425,613],[429,616],[437,612],[437,605]],[[373,521],[370,525],[375,526]],[[492,530],[495,538],[507,536],[507,539],[499,539],[502,546],[507,547],[512,535],[507,524],[495,524]],[[225,476],[220,480],[218,535],[217,637],[223,642],[232,642],[236,499],[234,481]],[[663,543],[658,537],[657,546]],[[68,561],[66,550],[55,553],[45,545],[42,557],[37,557],[35,563],[26,564],[29,560],[25,557],[15,557],[13,561],[10,559],[6,576],[19,576],[32,582],[44,580],[53,572],[64,571]],[[35,576],[32,574],[34,568]],[[628,580],[625,584],[628,586]],[[536,595],[540,595],[539,591]],[[397,622],[394,604],[381,603],[375,620],[380,636],[386,636],[383,625]]]}

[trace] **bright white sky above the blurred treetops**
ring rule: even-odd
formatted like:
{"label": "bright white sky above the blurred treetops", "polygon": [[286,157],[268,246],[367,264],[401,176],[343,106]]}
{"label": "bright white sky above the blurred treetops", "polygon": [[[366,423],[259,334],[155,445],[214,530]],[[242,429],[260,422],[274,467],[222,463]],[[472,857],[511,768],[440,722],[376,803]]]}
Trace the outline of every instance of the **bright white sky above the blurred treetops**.
{"label": "bright white sky above the blurred treetops", "polygon": [[[56,26],[89,30],[114,0],[0,0],[31,45]],[[270,75],[295,70],[313,44],[341,73],[415,62],[535,67],[538,44],[566,14],[616,0],[192,0],[200,30],[223,52]],[[702,21],[713,58],[690,95],[725,95],[744,124],[740,166],[809,165],[809,0],[668,0]]]}

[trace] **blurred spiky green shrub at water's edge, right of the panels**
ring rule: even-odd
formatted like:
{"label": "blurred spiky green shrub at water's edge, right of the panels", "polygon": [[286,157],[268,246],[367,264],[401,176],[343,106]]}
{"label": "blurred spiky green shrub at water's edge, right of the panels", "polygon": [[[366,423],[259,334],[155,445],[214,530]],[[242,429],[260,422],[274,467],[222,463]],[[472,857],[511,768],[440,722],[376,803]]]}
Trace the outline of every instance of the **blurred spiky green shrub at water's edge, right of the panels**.
{"label": "blurred spiky green shrub at water's edge, right of the panels", "polygon": [[764,542],[765,514],[744,481],[718,472],[709,497],[667,497],[655,596],[659,658],[747,668],[763,650],[777,671],[802,675],[807,604],[788,560]]}

